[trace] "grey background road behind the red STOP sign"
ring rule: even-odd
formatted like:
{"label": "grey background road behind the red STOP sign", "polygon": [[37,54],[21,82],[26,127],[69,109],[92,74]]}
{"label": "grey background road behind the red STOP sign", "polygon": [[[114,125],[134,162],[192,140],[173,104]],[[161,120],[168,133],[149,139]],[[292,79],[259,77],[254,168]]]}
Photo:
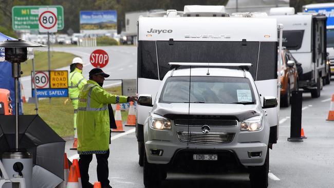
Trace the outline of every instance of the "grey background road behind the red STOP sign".
{"label": "grey background road behind the red STOP sign", "polygon": [[[96,49],[103,49],[109,55],[109,63],[102,70],[110,74],[108,80],[120,79],[136,79],[137,78],[137,47],[135,46],[100,46],[100,47],[53,47],[51,51],[69,52],[84,61],[83,76],[88,80],[88,72],[95,68],[89,62],[90,53]],[[47,50],[47,48],[39,48],[38,50]],[[52,64],[52,62],[51,62]],[[67,67],[57,70],[68,70],[71,62]],[[26,99],[31,97],[31,77],[21,78]],[[120,84],[120,81],[105,81],[104,85]]]}

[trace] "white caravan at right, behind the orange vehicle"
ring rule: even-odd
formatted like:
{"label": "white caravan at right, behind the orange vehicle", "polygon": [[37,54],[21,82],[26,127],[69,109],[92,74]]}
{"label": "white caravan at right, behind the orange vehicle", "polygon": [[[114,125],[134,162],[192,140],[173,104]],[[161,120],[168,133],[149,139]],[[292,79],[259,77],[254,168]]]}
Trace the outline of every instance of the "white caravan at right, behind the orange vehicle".
{"label": "white caravan at right, behind the orange vehicle", "polygon": [[326,16],[314,13],[294,14],[294,8],[272,8],[270,16],[283,24],[283,46],[302,64],[298,85],[310,91],[312,98],[320,97],[323,82],[330,74],[326,65]]}

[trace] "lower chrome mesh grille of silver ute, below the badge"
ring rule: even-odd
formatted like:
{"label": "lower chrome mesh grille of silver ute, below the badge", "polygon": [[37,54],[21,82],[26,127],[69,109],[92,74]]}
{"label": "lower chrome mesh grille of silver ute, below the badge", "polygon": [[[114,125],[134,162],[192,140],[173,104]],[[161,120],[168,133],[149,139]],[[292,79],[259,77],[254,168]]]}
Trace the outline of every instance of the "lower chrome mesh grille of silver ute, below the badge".
{"label": "lower chrome mesh grille of silver ute, below the badge", "polygon": [[188,142],[194,144],[221,144],[230,143],[234,138],[234,133],[208,133],[201,132],[177,132],[181,142]]}

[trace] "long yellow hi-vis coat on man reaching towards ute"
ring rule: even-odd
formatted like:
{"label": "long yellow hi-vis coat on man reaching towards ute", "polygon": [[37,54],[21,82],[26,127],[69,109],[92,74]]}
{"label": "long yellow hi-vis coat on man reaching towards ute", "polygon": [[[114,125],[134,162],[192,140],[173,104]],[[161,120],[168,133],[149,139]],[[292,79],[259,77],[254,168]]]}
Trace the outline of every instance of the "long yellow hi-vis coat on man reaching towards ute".
{"label": "long yellow hi-vis coat on man reaching towards ute", "polygon": [[112,95],[88,80],[79,95],[78,154],[105,154],[109,149],[108,104],[125,103],[126,96]]}

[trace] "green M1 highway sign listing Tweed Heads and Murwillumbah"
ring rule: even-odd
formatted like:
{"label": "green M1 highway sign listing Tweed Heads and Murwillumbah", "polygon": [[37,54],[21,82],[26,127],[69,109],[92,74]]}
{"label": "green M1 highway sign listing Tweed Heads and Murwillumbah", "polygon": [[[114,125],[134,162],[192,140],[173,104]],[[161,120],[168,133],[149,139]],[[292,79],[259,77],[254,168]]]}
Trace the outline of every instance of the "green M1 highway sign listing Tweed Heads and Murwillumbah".
{"label": "green M1 highway sign listing Tweed Heads and Murwillumbah", "polygon": [[12,27],[14,30],[38,30],[39,8],[57,8],[58,30],[64,29],[64,8],[50,6],[14,6],[12,8]]}

